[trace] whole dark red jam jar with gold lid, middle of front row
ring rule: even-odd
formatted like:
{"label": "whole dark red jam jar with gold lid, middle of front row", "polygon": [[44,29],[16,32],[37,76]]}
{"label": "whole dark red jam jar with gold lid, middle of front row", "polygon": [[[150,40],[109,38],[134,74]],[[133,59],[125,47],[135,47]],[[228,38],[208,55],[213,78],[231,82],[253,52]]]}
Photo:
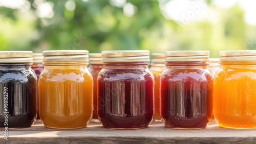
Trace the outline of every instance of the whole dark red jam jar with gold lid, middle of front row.
{"label": "whole dark red jam jar with gold lid, middle of front row", "polygon": [[154,75],[149,51],[102,51],[98,117],[105,128],[138,129],[152,122]]}

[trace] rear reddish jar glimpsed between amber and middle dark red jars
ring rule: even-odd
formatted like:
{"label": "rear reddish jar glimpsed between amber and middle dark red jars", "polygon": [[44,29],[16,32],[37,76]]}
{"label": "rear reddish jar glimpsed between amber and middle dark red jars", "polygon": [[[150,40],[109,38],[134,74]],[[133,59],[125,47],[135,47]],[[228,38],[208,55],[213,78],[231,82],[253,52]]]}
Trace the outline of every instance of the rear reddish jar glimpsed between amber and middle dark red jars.
{"label": "rear reddish jar glimpsed between amber and middle dark red jars", "polygon": [[89,71],[93,76],[93,121],[99,122],[97,114],[97,77],[100,70],[103,68],[101,64],[101,53],[89,53]]}

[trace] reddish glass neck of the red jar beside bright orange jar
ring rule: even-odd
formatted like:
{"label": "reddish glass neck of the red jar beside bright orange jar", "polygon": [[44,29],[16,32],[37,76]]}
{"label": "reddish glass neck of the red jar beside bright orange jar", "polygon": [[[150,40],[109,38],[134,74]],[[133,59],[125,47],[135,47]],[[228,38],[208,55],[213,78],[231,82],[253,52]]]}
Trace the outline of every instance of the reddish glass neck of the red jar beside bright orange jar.
{"label": "reddish glass neck of the red jar beside bright orange jar", "polygon": [[209,65],[209,63],[208,61],[175,61],[175,62],[167,61],[165,65],[166,65],[166,68],[207,69],[207,66]]}

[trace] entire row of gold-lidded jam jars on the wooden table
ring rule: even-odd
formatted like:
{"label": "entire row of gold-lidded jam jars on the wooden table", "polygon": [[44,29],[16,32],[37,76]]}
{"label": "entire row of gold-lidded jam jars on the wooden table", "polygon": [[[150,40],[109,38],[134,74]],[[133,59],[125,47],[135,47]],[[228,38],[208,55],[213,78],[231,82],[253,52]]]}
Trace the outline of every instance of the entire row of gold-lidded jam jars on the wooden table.
{"label": "entire row of gold-lidded jam jars on the wooden table", "polygon": [[41,74],[42,65],[32,65],[37,83],[32,52],[1,51],[0,127],[30,127],[38,92],[38,112],[48,128],[83,128],[92,117],[105,128],[145,128],[154,109],[154,119],[168,128],[205,128],[213,112],[220,127],[256,128],[256,51],[220,51],[214,79],[209,51],[155,54],[151,69],[149,51],[91,54],[89,69],[88,54],[43,51]]}

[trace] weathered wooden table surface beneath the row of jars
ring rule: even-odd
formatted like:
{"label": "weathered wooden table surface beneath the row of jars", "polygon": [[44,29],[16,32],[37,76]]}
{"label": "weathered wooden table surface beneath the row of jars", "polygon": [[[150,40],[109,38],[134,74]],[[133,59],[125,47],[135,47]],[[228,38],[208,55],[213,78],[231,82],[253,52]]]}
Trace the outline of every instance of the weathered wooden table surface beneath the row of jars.
{"label": "weathered wooden table surface beneath the row of jars", "polygon": [[[219,128],[212,120],[205,129],[174,130],[165,128],[162,122],[152,122],[150,127],[137,130],[105,129],[97,122],[87,128],[75,130],[48,129],[37,120],[30,128],[4,130],[0,143],[256,143],[256,129]],[[0,132],[1,133],[1,132]]]}

